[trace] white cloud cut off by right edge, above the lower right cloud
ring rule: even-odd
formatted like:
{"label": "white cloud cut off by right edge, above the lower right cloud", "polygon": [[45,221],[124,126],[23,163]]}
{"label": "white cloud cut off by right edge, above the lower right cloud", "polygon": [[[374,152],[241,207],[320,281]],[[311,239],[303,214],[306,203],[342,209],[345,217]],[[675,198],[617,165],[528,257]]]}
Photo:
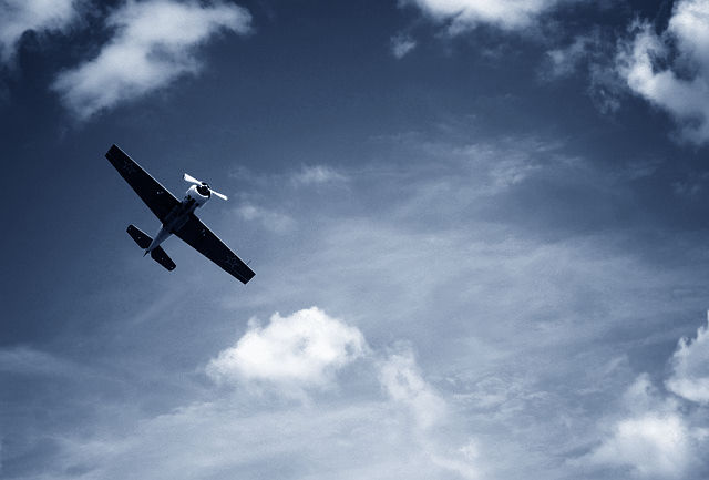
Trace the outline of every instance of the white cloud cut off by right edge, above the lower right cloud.
{"label": "white cloud cut off by right edge, above the lower right cloud", "polygon": [[680,339],[671,364],[667,388],[688,400],[709,404],[709,326],[699,328],[693,340]]}

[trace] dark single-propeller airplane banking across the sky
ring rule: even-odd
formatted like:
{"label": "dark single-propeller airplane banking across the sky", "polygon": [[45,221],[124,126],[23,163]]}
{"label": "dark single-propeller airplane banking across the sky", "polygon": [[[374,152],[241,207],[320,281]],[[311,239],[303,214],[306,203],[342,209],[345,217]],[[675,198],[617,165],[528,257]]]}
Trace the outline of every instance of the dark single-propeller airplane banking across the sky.
{"label": "dark single-propeller airplane banking across the sky", "polygon": [[185,173],[183,178],[192,183],[192,186],[181,202],[116,145],[112,145],[106,152],[106,159],[162,222],[154,238],[136,226],[129,225],[126,232],[145,251],[143,256],[150,254],[167,270],[174,270],[175,263],[161,247],[161,244],[174,234],[243,284],[254,278],[256,273],[195,215],[195,210],[207,203],[212,195],[227,200],[226,195],[215,192],[206,182]]}

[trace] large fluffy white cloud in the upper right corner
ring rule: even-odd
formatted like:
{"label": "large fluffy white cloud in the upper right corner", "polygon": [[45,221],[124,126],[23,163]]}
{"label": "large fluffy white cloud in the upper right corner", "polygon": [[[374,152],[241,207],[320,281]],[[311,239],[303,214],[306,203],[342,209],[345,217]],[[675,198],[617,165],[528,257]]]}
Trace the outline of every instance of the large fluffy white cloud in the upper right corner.
{"label": "large fluffy white cloud in the upper right corner", "polygon": [[618,72],[628,88],[668,112],[684,140],[709,140],[709,1],[680,0],[667,30],[649,23],[618,54]]}

